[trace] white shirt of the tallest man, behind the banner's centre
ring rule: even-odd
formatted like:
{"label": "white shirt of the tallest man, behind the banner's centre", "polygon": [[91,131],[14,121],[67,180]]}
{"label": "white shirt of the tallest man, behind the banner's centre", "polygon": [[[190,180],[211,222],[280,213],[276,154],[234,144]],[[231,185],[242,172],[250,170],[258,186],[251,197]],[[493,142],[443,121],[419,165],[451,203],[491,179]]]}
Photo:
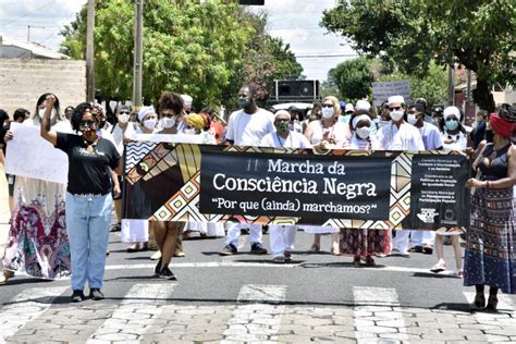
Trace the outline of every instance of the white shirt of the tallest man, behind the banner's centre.
{"label": "white shirt of the tallest man, behind the banner's centre", "polygon": [[261,139],[269,133],[274,133],[274,115],[263,109],[254,114],[238,110],[230,115],[225,138],[237,146],[259,146]]}

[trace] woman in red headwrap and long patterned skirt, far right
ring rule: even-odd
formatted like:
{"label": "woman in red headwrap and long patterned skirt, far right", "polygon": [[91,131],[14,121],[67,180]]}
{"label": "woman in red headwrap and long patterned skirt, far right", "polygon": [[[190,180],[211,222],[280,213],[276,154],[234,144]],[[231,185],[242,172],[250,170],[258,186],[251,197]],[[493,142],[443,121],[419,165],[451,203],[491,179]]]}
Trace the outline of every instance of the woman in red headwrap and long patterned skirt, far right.
{"label": "woman in red headwrap and long patterned skirt, far right", "polygon": [[[511,136],[516,126],[516,110],[504,106],[490,116],[492,143],[480,146],[474,169],[479,177],[469,179],[470,228],[465,255],[464,285],[475,285],[472,309],[495,311],[497,291],[516,294],[516,146]],[[484,285],[489,285],[486,305]]]}

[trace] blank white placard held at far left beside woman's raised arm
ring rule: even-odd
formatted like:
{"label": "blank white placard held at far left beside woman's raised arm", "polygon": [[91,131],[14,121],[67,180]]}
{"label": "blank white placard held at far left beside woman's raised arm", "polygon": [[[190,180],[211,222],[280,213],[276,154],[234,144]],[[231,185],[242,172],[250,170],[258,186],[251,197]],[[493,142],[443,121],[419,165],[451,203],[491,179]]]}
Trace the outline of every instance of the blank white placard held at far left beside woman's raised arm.
{"label": "blank white placard held at far left beside woman's raised arm", "polygon": [[39,135],[39,126],[11,123],[5,173],[66,184],[69,157]]}

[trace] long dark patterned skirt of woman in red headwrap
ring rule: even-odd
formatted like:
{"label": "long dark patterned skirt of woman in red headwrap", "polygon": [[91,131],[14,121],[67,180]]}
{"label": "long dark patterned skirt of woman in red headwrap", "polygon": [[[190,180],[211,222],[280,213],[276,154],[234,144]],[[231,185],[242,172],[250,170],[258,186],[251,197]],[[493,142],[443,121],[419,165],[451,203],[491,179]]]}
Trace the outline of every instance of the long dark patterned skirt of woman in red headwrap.
{"label": "long dark patterned skirt of woman in red headwrap", "polygon": [[478,188],[471,198],[464,285],[516,294],[516,200],[511,188]]}

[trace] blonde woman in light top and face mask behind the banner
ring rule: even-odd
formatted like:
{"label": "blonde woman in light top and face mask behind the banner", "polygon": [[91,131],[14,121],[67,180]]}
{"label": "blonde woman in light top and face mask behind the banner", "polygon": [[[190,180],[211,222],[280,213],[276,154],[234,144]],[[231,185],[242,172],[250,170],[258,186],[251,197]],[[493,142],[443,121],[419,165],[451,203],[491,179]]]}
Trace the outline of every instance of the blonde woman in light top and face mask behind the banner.
{"label": "blonde woman in light top and face mask behind the banner", "polygon": [[[305,136],[308,138],[314,149],[342,148],[346,142],[346,125],[339,122],[341,105],[339,99],[328,96],[322,100],[321,119],[308,124]],[[307,233],[314,233],[314,244],[310,253],[318,253],[321,249],[321,234],[331,233],[331,254],[339,256],[339,229],[333,226],[304,225]]]}

